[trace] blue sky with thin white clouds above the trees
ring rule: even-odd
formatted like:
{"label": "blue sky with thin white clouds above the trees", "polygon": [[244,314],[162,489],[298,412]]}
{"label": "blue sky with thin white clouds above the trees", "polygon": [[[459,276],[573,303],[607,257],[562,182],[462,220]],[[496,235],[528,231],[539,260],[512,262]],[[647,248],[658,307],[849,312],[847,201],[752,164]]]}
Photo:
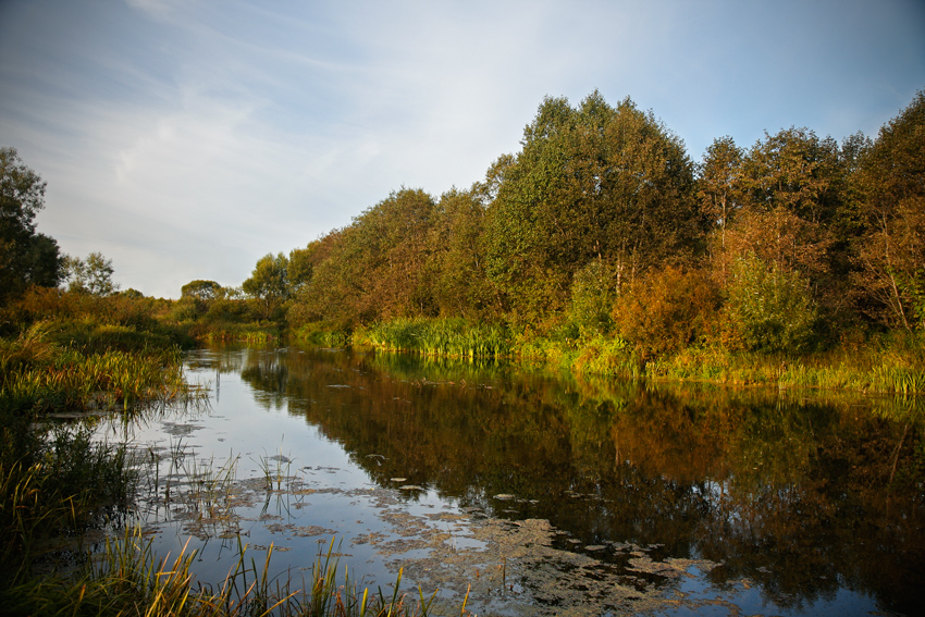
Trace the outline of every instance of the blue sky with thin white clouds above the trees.
{"label": "blue sky with thin white clouds above the trees", "polygon": [[875,137],[923,88],[923,0],[0,0],[0,147],[48,183],[38,231],[157,297],[469,187],[546,96],[629,97],[700,161]]}

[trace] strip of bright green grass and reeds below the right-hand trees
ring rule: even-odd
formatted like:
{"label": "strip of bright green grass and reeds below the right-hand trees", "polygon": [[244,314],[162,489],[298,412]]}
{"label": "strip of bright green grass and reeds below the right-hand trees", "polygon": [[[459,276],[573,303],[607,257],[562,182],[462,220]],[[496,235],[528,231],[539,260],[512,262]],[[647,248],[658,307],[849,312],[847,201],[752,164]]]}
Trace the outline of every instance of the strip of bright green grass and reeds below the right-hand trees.
{"label": "strip of bright green grass and reeds below the right-hand trees", "polygon": [[656,355],[617,336],[581,336],[568,328],[535,332],[457,319],[415,319],[358,329],[349,341],[383,351],[468,359],[504,357],[580,374],[628,379],[925,393],[922,333],[875,335],[801,355],[727,349],[719,344]]}

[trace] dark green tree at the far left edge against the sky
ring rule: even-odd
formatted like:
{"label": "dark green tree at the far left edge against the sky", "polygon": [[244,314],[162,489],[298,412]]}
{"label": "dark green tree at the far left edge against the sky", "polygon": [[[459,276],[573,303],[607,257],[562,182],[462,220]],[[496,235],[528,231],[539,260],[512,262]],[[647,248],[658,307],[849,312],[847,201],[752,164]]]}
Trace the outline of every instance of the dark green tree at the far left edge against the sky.
{"label": "dark green tree at the far left edge against the sky", "polygon": [[54,287],[63,276],[58,243],[36,233],[45,188],[14,148],[0,148],[0,303],[30,284]]}

